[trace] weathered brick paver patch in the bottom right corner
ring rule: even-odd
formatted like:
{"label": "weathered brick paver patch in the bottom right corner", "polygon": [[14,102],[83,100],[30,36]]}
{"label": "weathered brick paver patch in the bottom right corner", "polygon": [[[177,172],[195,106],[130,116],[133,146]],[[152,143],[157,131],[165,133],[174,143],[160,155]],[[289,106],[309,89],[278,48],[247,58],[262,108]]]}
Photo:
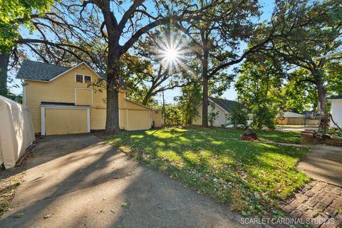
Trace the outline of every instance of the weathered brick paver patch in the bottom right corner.
{"label": "weathered brick paver patch in the bottom right corner", "polygon": [[291,217],[310,219],[315,228],[342,227],[342,187],[336,185],[314,180],[286,199],[281,207]]}

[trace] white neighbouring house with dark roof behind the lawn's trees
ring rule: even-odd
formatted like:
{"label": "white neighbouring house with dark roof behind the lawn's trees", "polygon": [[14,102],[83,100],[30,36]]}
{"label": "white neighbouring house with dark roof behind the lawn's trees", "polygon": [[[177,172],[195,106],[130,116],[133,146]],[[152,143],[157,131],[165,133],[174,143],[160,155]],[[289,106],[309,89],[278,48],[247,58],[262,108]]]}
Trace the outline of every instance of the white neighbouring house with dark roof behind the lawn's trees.
{"label": "white neighbouring house with dark roof behind the lawn's trees", "polygon": [[[215,104],[214,110],[212,110],[212,107],[210,105],[211,103]],[[215,127],[221,127],[222,125],[225,125],[226,127],[230,127],[230,126],[227,126],[226,115],[234,107],[234,105],[241,105],[241,104],[235,100],[209,98],[208,115],[209,113],[212,113],[212,112],[219,113],[216,120],[214,121]],[[192,124],[202,125],[202,103],[198,106],[197,111],[199,113],[199,116],[192,122]]]}

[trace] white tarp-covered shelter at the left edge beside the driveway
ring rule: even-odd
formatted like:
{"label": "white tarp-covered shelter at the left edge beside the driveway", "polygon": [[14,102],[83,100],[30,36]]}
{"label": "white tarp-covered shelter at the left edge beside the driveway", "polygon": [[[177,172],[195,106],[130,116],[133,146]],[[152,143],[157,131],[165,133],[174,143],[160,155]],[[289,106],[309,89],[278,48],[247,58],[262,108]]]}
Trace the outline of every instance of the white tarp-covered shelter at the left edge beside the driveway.
{"label": "white tarp-covered shelter at the left edge beside the driveway", "polygon": [[30,111],[0,95],[0,165],[14,167],[34,140]]}

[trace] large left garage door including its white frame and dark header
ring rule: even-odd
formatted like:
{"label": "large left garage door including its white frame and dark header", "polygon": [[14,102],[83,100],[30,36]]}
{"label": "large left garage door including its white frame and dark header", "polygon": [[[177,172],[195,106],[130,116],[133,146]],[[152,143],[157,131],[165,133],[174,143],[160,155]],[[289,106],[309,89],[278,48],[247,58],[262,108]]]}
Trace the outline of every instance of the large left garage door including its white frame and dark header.
{"label": "large left garage door including its white frame and dark header", "polygon": [[90,107],[41,103],[41,135],[90,133]]}

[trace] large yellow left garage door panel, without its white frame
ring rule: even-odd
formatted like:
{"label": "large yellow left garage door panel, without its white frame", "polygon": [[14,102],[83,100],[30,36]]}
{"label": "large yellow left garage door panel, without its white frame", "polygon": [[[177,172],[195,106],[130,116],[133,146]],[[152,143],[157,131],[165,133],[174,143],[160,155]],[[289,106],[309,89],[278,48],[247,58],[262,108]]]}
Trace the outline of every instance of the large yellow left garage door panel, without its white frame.
{"label": "large yellow left garage door panel, without its white frame", "polygon": [[87,133],[87,110],[46,108],[45,122],[46,135]]}

